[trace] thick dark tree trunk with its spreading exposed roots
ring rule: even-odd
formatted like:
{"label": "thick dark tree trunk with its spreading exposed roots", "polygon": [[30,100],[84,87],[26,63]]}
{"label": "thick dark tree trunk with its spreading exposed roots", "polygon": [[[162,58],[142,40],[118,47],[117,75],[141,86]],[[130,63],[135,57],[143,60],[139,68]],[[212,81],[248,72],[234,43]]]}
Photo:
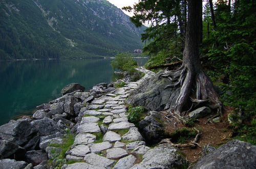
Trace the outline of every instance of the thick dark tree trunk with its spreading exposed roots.
{"label": "thick dark tree trunk with its spreading exposed roots", "polygon": [[183,107],[189,101],[189,98],[208,100],[210,106],[218,108],[218,114],[221,115],[222,103],[219,101],[219,96],[215,92],[210,78],[205,74],[200,64],[201,9],[202,1],[188,1],[188,20],[182,66],[178,70],[168,71],[161,75],[168,77],[172,81],[172,85],[168,85],[165,88],[180,86],[180,93],[173,109],[179,115],[182,114]]}

